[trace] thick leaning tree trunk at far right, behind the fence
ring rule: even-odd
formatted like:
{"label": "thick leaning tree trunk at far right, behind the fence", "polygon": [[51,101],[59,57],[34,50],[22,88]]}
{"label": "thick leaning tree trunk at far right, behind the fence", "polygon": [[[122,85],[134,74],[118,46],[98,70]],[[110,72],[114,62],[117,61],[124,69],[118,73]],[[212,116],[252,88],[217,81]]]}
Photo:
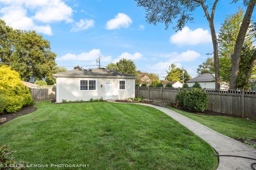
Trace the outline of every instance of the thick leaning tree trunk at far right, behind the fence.
{"label": "thick leaning tree trunk at far right, behind the fence", "polygon": [[234,53],[231,55],[231,78],[230,78],[229,89],[236,89],[236,79],[239,72],[239,64],[241,61],[242,48],[243,48],[246,32],[251,22],[251,16],[252,16],[255,3],[256,3],[256,0],[250,0],[247,6],[247,10],[245,12],[244,19],[236,39]]}

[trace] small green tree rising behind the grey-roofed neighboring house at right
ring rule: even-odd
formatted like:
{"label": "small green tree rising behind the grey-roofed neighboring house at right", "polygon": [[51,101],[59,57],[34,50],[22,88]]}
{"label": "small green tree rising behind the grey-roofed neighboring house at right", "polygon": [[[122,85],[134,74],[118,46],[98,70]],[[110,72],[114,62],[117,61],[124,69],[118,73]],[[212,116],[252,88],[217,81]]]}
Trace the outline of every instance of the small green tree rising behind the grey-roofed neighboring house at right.
{"label": "small green tree rising behind the grey-roofed neighboring house at right", "polygon": [[196,72],[198,75],[203,74],[203,73],[214,73],[215,69],[214,69],[213,57],[207,58],[207,60],[205,62],[198,65]]}

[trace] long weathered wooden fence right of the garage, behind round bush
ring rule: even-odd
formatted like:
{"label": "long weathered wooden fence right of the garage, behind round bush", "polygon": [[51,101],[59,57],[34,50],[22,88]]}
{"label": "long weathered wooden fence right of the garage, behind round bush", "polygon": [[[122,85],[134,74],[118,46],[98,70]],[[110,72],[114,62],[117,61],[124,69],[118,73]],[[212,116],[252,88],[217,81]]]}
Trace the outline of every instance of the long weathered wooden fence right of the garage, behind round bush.
{"label": "long weathered wooden fence right of the garage, behind round bush", "polygon": [[[183,88],[185,89],[185,88]],[[135,96],[175,101],[182,88],[135,87]],[[191,90],[186,88],[186,90]],[[256,91],[203,89],[208,97],[209,111],[233,114],[256,120]]]}

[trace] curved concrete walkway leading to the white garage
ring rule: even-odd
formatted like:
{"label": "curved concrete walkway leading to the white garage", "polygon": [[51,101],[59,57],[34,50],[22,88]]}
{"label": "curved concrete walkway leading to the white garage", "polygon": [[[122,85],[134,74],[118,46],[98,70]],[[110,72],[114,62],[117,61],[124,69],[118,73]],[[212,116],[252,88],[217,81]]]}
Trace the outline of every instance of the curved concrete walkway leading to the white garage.
{"label": "curved concrete walkway leading to the white garage", "polygon": [[[242,142],[239,142],[235,139],[229,138],[226,135],[223,135],[219,132],[216,132],[206,126],[191,120],[190,118],[183,116],[177,112],[171,111],[170,109],[148,105],[140,104],[145,106],[154,107],[165,114],[172,117],[174,120],[178,121],[180,124],[188,128],[190,131],[194,132],[198,137],[202,138],[204,141],[209,143],[219,155],[236,155],[244,156],[256,159],[256,149],[245,145]],[[256,129],[256,127],[255,127]],[[218,170],[251,170],[251,164],[255,163],[256,160],[238,158],[238,157],[219,157],[219,166]]]}

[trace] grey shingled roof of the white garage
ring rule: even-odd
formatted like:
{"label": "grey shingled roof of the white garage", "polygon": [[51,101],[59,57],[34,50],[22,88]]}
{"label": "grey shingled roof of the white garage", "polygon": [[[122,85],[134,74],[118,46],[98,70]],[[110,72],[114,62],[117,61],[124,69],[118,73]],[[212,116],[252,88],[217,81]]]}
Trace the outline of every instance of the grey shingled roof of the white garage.
{"label": "grey shingled roof of the white garage", "polygon": [[120,73],[114,70],[104,68],[97,69],[74,69],[57,74],[54,77],[108,77],[108,78],[137,78],[131,74]]}

